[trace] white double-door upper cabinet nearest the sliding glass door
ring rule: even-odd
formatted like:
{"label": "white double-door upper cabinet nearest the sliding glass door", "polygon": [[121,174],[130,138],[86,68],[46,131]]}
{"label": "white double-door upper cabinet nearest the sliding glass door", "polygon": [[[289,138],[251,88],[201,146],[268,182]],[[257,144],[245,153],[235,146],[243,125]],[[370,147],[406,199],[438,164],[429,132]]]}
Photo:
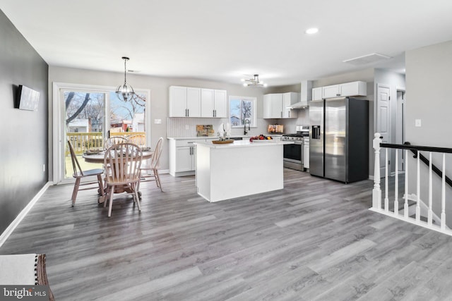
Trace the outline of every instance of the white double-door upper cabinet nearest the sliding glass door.
{"label": "white double-door upper cabinet nearest the sliding glass door", "polygon": [[201,88],[169,87],[169,117],[201,117]]}

